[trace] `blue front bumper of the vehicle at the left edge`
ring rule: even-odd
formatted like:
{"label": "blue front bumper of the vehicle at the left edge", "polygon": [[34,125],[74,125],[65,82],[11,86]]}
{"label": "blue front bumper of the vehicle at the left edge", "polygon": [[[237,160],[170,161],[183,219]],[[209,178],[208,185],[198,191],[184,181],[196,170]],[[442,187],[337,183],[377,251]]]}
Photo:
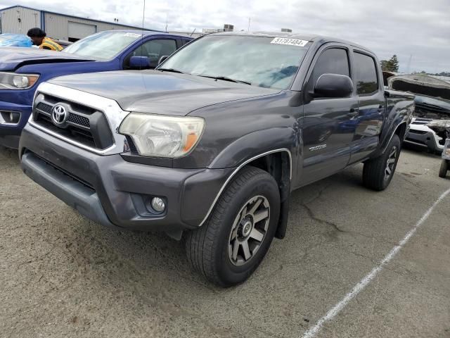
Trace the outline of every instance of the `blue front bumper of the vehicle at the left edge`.
{"label": "blue front bumper of the vehicle at the left edge", "polygon": [[32,113],[32,106],[0,101],[0,111],[20,113],[18,123],[0,123],[0,146],[17,149],[20,133]]}

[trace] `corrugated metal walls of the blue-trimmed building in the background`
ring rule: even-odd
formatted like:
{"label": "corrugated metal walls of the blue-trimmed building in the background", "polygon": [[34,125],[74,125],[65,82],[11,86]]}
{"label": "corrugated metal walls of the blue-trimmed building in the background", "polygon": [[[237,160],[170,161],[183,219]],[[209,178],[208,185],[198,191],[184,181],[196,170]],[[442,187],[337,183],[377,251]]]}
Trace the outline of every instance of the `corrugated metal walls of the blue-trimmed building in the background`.
{"label": "corrugated metal walls of the blue-trimmed building in the background", "polygon": [[[134,27],[115,25],[113,23],[101,23],[96,20],[73,18],[63,14],[34,11],[28,8],[15,7],[1,11],[1,29],[3,33],[27,34],[32,27],[41,27],[41,15],[44,15],[44,27],[48,37],[56,39],[69,39],[69,21],[72,23],[84,23],[95,25],[96,31],[103,30],[136,30]],[[19,19],[20,18],[20,22]]]}

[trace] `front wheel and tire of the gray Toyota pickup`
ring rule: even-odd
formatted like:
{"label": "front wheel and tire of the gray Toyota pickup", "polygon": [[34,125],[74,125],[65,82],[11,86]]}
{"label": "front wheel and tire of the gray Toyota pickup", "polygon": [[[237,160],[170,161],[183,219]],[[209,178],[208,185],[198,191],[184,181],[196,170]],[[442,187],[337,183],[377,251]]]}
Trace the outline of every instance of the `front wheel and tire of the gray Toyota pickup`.
{"label": "front wheel and tire of the gray Toyota pickup", "polygon": [[221,194],[207,222],[188,232],[189,263],[220,287],[244,282],[266,255],[279,213],[280,193],[274,177],[258,168],[243,168]]}

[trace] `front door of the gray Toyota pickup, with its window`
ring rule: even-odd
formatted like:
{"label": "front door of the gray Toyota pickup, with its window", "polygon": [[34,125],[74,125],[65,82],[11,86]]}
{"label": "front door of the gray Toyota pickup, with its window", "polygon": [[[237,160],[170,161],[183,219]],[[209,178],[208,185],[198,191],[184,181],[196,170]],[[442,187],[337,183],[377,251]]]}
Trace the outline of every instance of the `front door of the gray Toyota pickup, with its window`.
{"label": "front door of the gray Toyota pickup, with its window", "polygon": [[312,96],[314,85],[322,74],[352,77],[349,49],[341,44],[323,46],[311,63],[303,86],[304,117],[301,119],[303,161],[300,185],[337,173],[350,158],[354,128],[348,126],[358,110],[355,94],[346,98]]}

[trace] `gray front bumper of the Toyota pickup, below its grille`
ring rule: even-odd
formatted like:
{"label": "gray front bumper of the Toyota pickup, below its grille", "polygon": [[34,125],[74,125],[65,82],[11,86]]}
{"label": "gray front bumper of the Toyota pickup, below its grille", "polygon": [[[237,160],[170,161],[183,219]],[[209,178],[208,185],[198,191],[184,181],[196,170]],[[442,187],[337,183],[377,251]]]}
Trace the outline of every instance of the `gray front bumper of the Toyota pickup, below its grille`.
{"label": "gray front bumper of the Toyota pickup, below its grille", "polygon": [[[19,154],[26,175],[75,210],[108,227],[165,231],[195,229],[233,168],[179,169],[100,156],[27,125]],[[162,196],[162,215],[143,201]]]}

